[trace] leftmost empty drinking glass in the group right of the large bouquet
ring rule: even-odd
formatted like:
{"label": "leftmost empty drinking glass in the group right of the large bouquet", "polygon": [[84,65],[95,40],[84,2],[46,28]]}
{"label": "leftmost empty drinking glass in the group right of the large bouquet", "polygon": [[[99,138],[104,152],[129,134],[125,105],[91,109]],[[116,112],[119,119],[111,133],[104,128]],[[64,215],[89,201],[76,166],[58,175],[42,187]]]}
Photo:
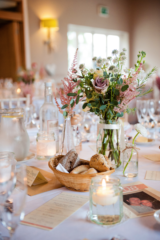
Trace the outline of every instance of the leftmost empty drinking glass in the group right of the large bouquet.
{"label": "leftmost empty drinking glass in the group right of the large bouquet", "polygon": [[137,100],[136,113],[138,122],[144,125],[148,123],[148,100]]}

